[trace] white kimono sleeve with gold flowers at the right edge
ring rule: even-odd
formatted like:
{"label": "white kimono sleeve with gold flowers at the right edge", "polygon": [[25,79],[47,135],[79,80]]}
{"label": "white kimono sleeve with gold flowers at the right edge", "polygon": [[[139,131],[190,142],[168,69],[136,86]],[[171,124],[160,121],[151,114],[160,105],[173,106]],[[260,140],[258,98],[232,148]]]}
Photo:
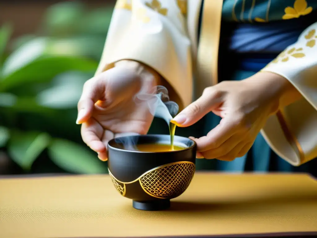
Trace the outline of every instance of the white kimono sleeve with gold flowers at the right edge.
{"label": "white kimono sleeve with gold flowers at the right edge", "polygon": [[262,135],[281,158],[299,166],[317,157],[317,23],[262,71],[279,74],[303,98],[268,119]]}

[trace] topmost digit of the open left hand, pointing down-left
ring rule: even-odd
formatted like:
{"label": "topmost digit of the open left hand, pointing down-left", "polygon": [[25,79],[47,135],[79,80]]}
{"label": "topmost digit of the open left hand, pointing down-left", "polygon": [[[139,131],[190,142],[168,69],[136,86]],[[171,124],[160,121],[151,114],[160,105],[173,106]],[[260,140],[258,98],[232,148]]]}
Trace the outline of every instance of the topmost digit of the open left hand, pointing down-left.
{"label": "topmost digit of the open left hand, pointing down-left", "polygon": [[[105,73],[103,73],[103,76]],[[81,98],[77,105],[77,124],[87,121],[92,115],[94,104],[98,100],[104,99],[105,85],[101,82],[100,77],[91,78],[84,84]]]}

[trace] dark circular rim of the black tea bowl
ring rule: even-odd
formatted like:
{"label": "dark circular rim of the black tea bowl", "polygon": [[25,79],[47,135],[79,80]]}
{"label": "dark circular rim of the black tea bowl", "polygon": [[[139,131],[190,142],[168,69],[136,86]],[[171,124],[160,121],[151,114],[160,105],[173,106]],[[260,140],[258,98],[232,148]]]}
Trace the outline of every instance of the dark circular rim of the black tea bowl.
{"label": "dark circular rim of the black tea bowl", "polygon": [[[133,135],[133,136],[170,136],[170,135],[165,135],[165,134],[150,134],[150,135]],[[188,137],[185,137],[185,136],[174,136],[174,141],[175,141],[175,138],[178,137],[178,138],[185,138],[185,139],[188,139],[190,141],[193,142],[193,144],[190,146],[190,147],[186,147],[184,149],[179,149],[179,150],[173,150],[173,151],[157,151],[157,152],[154,152],[154,151],[138,151],[138,150],[128,150],[128,149],[120,149],[120,148],[116,148],[116,147],[113,147],[110,145],[110,142],[113,142],[115,139],[118,139],[118,138],[123,138],[123,137],[130,137],[130,136],[120,136],[120,137],[117,137],[117,138],[113,138],[111,139],[108,143],[107,143],[107,151],[108,151],[108,148],[110,147],[111,149],[114,149],[114,150],[118,150],[118,151],[125,151],[125,152],[130,152],[130,153],[142,153],[142,154],[157,154],[157,153],[175,153],[175,152],[180,152],[180,151],[186,151],[186,150],[189,150],[189,149],[193,149],[195,147],[197,147],[197,144],[196,142],[191,139],[191,138],[188,138]]]}

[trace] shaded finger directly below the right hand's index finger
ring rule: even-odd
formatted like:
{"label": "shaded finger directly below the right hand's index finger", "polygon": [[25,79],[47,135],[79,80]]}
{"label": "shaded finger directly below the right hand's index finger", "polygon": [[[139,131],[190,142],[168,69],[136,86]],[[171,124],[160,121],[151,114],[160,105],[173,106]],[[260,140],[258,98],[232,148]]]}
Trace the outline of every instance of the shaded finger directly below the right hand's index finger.
{"label": "shaded finger directly below the right hand's index finger", "polygon": [[242,137],[243,136],[241,134],[235,134],[223,142],[219,147],[200,152],[202,152],[204,158],[206,159],[214,159],[224,156],[241,142],[243,139]]}

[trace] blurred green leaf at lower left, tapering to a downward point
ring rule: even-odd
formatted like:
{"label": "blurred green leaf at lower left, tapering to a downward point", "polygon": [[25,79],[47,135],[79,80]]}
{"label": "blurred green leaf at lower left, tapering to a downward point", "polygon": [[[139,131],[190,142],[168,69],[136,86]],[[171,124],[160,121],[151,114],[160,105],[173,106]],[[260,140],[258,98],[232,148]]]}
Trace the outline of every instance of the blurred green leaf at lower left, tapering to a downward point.
{"label": "blurred green leaf at lower left, tapering to a downward point", "polygon": [[9,140],[9,155],[21,168],[30,170],[36,158],[49,145],[50,139],[46,133],[14,132]]}

